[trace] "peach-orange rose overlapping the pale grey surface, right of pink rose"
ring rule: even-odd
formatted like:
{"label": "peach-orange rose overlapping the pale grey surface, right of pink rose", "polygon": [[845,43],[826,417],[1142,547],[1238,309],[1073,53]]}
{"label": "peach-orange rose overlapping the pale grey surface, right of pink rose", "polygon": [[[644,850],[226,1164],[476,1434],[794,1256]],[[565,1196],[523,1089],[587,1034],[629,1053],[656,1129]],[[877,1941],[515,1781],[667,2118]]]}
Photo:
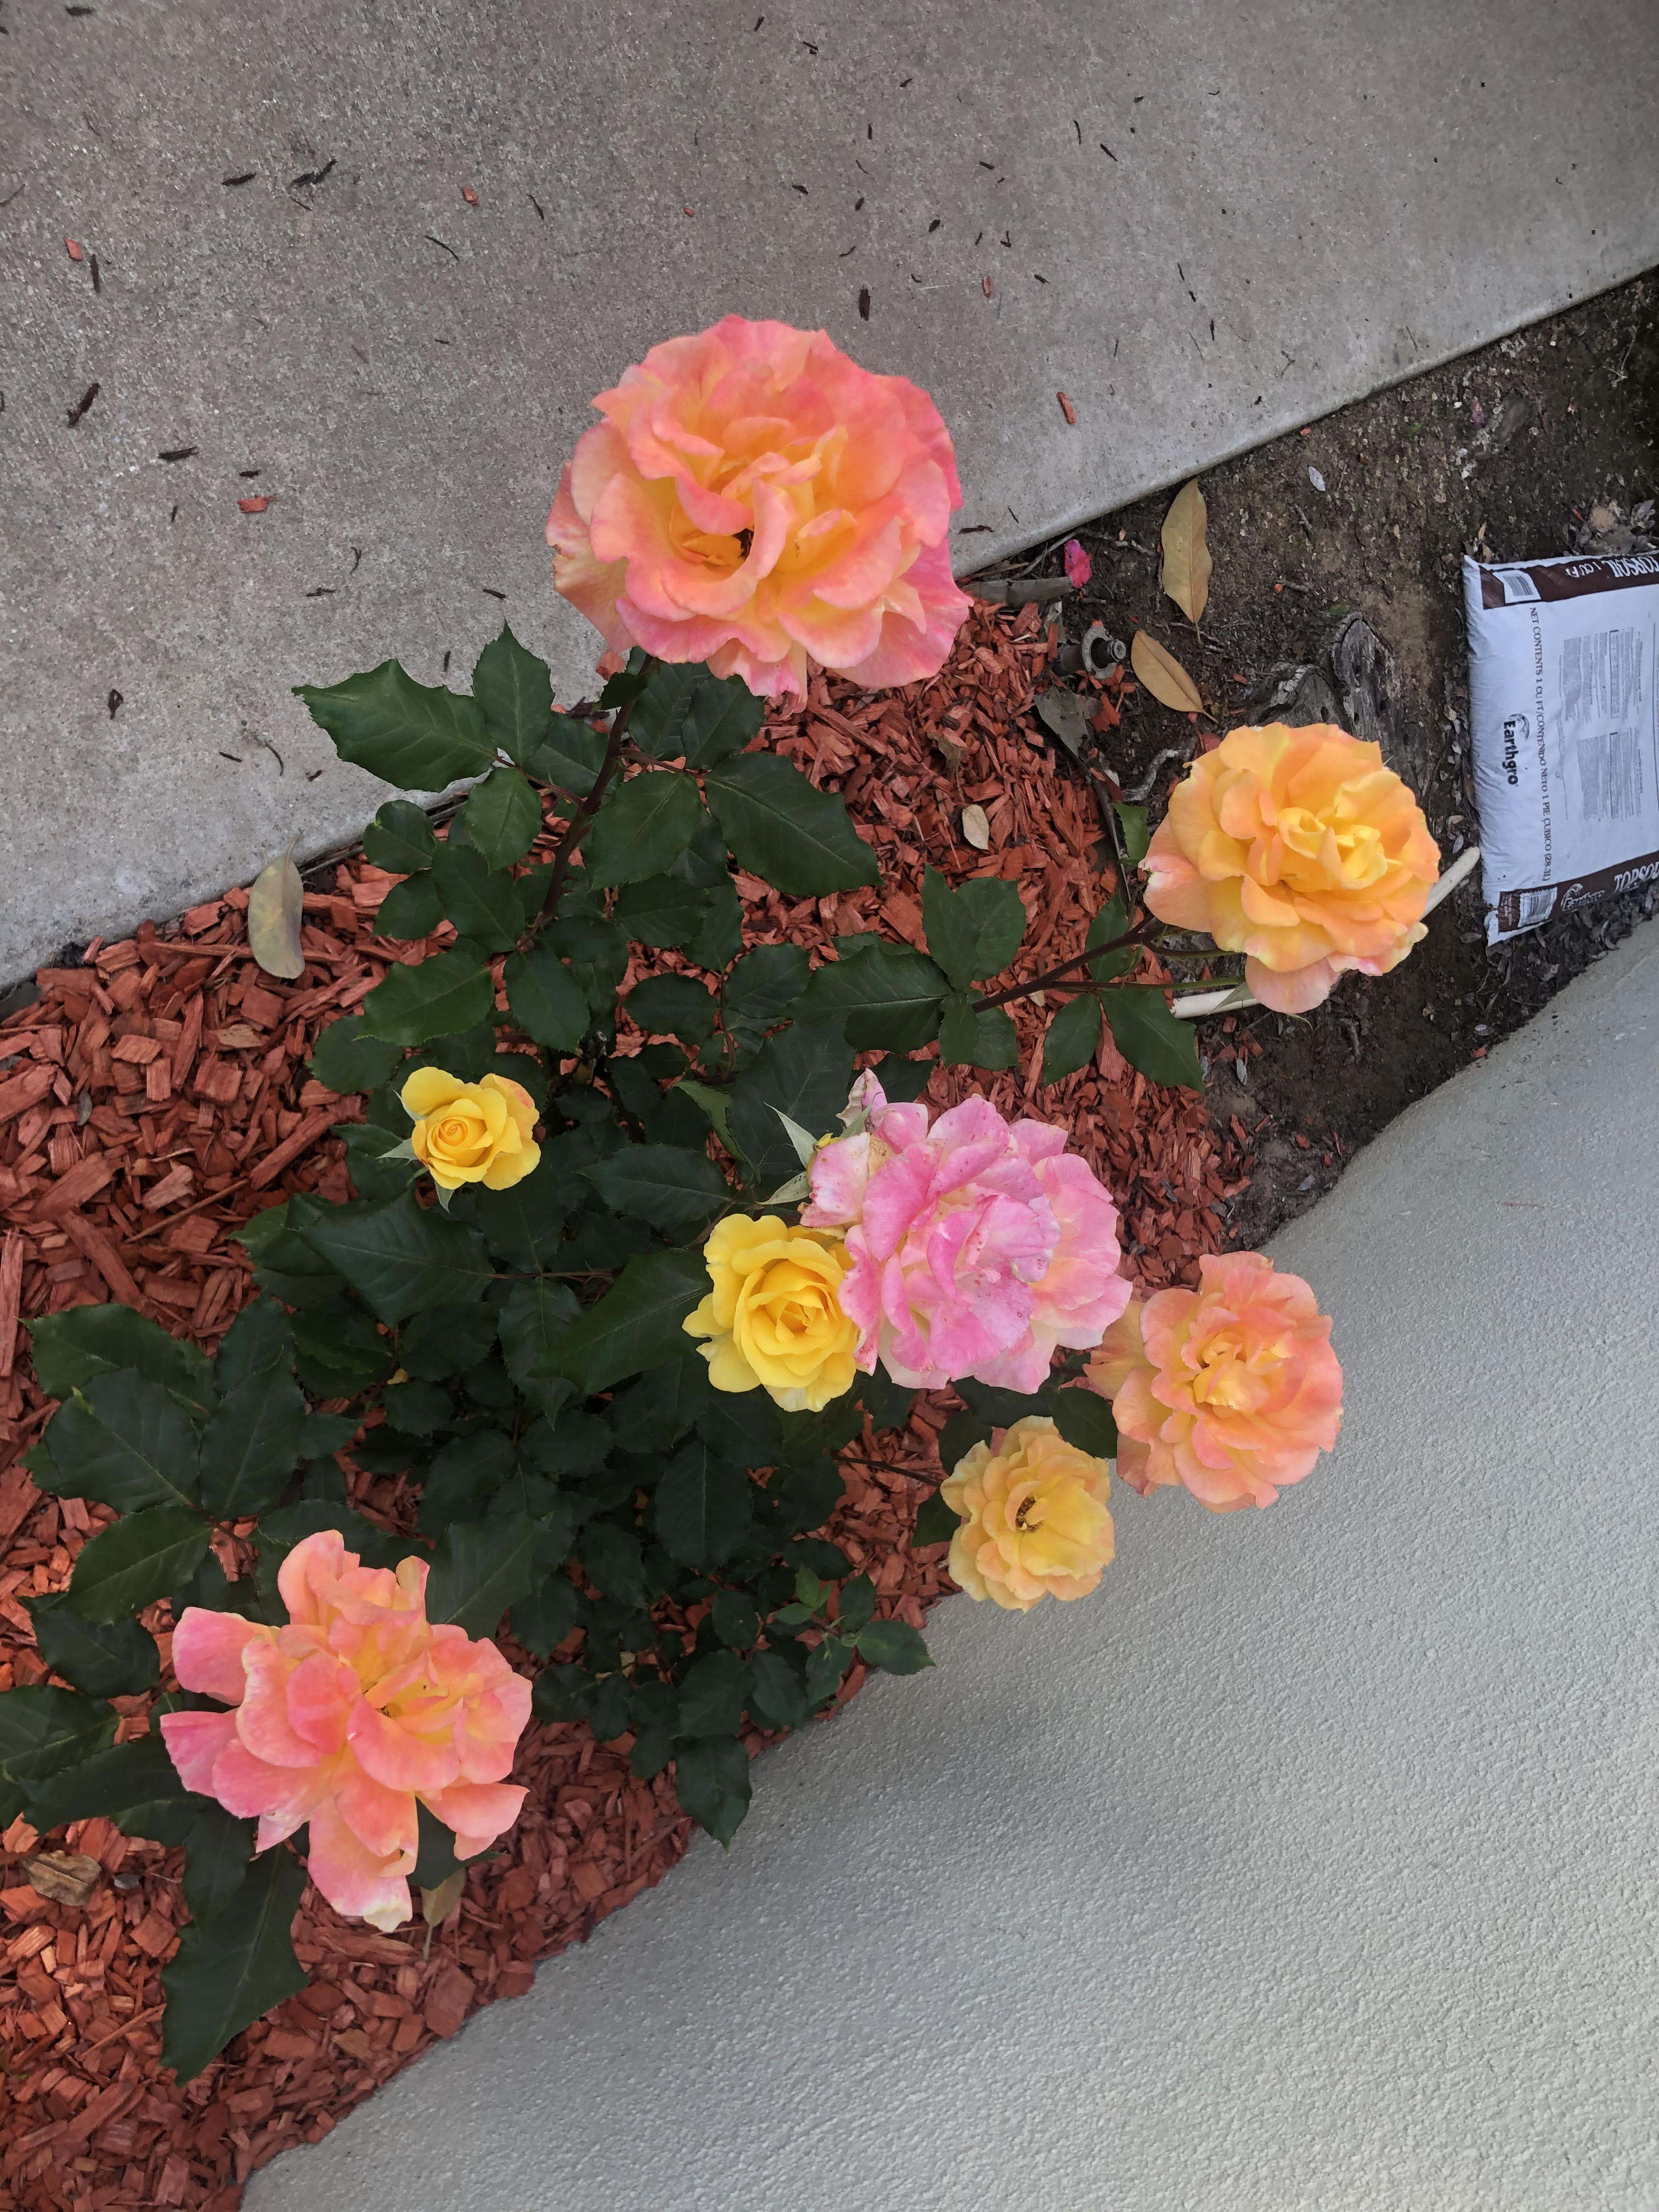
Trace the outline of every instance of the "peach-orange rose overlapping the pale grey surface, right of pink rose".
{"label": "peach-orange rose overlapping the pale grey surface, right of pink rose", "polygon": [[1159,1290],[1104,1336],[1088,1385],[1113,1400],[1117,1473],[1183,1482],[1214,1513],[1270,1506],[1343,1425],[1332,1325],[1261,1252],[1208,1254],[1197,1290]]}

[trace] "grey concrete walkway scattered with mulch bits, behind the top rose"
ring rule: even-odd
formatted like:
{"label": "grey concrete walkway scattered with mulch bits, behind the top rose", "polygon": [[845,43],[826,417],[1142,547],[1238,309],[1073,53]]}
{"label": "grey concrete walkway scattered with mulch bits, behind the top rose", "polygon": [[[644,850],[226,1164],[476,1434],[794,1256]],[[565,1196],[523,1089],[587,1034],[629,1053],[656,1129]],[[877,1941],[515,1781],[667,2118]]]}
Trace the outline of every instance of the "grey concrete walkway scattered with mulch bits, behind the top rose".
{"label": "grey concrete walkway scattered with mulch bits, behind the top rose", "polygon": [[661,336],[785,316],[925,383],[978,566],[1659,261],[1652,0],[7,31],[0,987],[363,825],[294,681],[460,675],[507,615],[577,695],[542,524]]}

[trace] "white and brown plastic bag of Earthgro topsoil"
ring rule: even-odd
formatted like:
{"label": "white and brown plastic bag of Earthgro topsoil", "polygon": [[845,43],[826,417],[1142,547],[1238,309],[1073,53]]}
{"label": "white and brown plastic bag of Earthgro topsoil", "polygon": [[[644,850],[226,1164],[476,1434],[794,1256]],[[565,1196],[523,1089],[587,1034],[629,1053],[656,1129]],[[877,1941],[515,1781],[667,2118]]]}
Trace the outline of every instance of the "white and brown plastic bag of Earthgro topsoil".
{"label": "white and brown plastic bag of Earthgro topsoil", "polygon": [[1659,553],[1462,564],[1486,942],[1659,883]]}

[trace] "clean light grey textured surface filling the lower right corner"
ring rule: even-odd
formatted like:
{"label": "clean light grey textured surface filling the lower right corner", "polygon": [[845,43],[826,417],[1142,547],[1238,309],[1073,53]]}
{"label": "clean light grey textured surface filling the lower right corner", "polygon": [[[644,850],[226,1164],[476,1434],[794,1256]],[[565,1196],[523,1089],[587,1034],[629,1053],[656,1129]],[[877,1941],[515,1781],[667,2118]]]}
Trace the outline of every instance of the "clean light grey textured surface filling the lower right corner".
{"label": "clean light grey textured surface filling the lower right corner", "polygon": [[1659,929],[1279,1259],[1347,1429],[763,1759],[248,2212],[1659,2203]]}

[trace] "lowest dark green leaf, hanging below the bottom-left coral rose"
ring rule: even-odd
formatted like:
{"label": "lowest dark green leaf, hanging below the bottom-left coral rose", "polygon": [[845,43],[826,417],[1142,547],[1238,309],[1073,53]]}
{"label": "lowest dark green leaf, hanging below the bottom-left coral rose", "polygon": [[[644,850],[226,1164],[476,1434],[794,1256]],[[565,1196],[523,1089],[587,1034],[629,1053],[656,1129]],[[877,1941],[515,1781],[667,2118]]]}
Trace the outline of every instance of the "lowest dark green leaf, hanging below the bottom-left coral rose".
{"label": "lowest dark green leaf, hanging below the bottom-left coral rose", "polygon": [[161,2064],[192,2081],[232,2035],[305,1989],[292,1927],[305,1869],[276,1845],[250,1865],[234,1896],[204,1927],[190,1922],[161,1969]]}

